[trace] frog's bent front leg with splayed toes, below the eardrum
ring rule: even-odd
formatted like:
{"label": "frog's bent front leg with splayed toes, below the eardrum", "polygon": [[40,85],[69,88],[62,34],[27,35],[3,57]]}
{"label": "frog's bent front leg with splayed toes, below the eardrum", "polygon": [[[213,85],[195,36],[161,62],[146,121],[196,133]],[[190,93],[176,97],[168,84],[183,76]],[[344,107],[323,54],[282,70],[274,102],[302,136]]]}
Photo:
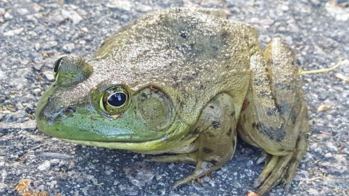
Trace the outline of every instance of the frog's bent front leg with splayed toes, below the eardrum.
{"label": "frog's bent front leg with splayed toes, below the eardrum", "polygon": [[219,169],[232,158],[237,141],[236,127],[237,121],[231,96],[226,93],[218,94],[205,107],[193,127],[194,133],[199,134],[194,144],[197,146],[195,151],[173,156],[158,156],[149,160],[165,163],[195,163],[193,173],[177,181],[173,186],[176,188]]}

